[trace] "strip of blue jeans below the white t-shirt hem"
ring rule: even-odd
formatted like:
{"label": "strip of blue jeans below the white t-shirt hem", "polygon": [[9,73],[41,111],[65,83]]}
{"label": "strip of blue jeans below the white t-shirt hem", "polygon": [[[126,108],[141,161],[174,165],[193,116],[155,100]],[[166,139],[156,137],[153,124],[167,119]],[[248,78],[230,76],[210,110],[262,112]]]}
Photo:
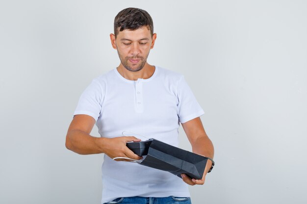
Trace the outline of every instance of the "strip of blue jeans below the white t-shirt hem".
{"label": "strip of blue jeans below the white t-shirt hem", "polygon": [[117,198],[111,202],[105,204],[191,204],[190,197],[164,197],[164,198],[153,198],[153,197],[125,197]]}

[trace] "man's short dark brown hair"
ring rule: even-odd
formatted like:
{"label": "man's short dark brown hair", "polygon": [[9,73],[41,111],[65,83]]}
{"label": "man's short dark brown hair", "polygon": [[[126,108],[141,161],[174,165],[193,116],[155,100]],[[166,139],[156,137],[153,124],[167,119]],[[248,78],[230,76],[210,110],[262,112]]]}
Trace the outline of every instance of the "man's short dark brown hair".
{"label": "man's short dark brown hair", "polygon": [[153,36],[153,19],[149,13],[139,8],[125,8],[114,19],[115,38],[119,31],[136,30],[144,26],[147,26]]}

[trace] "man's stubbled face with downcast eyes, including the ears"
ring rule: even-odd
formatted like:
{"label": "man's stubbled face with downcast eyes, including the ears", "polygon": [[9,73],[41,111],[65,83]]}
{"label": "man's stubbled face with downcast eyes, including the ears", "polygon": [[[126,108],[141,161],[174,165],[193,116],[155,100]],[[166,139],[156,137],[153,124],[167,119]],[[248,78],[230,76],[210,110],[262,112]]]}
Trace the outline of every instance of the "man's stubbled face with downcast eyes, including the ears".
{"label": "man's stubbled face with downcast eyes, including the ears", "polygon": [[139,71],[146,64],[156,34],[154,33],[152,37],[150,30],[145,26],[137,30],[120,31],[116,39],[114,34],[111,34],[110,38],[124,68],[129,71]]}

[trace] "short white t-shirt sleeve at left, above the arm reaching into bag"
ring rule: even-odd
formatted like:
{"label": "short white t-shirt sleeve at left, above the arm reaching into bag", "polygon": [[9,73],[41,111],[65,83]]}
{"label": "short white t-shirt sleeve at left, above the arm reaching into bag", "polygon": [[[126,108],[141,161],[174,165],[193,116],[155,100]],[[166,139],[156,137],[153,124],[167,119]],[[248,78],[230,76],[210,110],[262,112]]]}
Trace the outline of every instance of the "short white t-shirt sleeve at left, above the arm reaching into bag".
{"label": "short white t-shirt sleeve at left, above the arm reaching into bag", "polygon": [[74,115],[90,115],[97,121],[102,109],[103,95],[101,84],[94,79],[81,94]]}

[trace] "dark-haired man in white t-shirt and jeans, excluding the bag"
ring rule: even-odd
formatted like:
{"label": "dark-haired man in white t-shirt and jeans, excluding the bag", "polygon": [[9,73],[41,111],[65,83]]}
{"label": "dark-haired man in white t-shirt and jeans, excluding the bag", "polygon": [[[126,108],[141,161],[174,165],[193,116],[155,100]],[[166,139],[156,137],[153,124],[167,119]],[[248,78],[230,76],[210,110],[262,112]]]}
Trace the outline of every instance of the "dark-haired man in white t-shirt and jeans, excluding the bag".
{"label": "dark-haired man in white t-shirt and jeans, excluding the bag", "polygon": [[[181,74],[147,63],[156,34],[146,11],[127,8],[119,12],[110,39],[121,63],[94,79],[82,93],[66,147],[78,154],[105,154],[102,203],[190,203],[187,184],[204,184],[211,161],[203,179],[195,180],[113,158],[142,159],[126,143],[146,137],[178,146],[179,122],[193,152],[213,158],[213,145],[200,119],[204,111]],[[89,135],[95,122],[99,138]],[[124,131],[137,135],[123,136]]]}

